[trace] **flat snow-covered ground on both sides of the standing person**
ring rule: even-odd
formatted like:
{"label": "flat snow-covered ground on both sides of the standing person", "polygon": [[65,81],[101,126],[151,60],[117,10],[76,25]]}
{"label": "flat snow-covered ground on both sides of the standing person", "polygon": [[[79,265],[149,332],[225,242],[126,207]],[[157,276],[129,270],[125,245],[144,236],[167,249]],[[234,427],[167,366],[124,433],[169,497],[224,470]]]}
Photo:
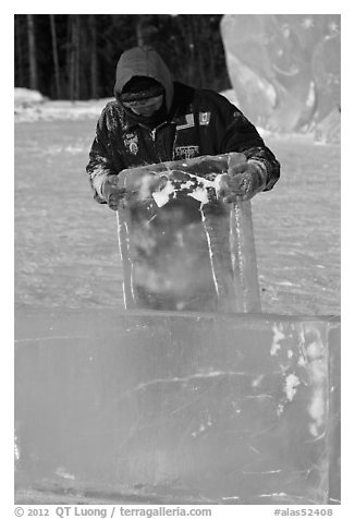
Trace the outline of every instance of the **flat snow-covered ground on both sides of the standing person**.
{"label": "flat snow-covered ground on both sides of the standing person", "polygon": [[[16,92],[17,304],[123,309],[115,215],[93,201],[85,173],[107,101]],[[262,310],[340,314],[340,146],[264,137],[282,177],[253,201]]]}

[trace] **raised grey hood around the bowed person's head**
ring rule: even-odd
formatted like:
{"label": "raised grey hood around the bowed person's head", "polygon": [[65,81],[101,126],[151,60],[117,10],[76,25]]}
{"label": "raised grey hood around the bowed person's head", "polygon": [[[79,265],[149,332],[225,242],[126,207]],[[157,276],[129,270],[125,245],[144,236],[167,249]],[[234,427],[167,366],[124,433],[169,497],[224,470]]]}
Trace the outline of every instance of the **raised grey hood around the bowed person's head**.
{"label": "raised grey hood around the bowed person's head", "polygon": [[152,77],[166,89],[167,109],[170,111],[173,98],[173,80],[170,70],[158,52],[146,47],[134,47],[122,53],[115,69],[114,97],[119,100],[124,85],[135,75]]}

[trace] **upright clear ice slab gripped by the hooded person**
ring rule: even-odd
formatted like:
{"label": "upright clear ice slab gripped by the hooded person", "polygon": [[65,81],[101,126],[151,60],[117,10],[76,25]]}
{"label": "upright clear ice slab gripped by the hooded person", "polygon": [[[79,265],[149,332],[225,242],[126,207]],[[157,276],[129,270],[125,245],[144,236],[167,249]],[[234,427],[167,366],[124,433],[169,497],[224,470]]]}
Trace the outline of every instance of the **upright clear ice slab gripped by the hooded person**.
{"label": "upright clear ice slab gripped by the hooded person", "polygon": [[223,202],[243,154],[124,170],[119,238],[127,309],[260,311],[250,202]]}

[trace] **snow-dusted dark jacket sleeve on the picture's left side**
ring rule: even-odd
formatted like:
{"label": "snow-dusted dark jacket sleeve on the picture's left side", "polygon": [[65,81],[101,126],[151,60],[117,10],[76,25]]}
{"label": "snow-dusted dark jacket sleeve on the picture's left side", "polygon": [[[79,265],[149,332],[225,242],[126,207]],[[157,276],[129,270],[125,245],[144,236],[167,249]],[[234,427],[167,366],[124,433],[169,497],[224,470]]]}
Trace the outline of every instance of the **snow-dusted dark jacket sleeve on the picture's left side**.
{"label": "snow-dusted dark jacket sleeve on the picture's left side", "polygon": [[110,117],[112,117],[112,114],[106,107],[97,122],[96,135],[89,152],[89,162],[86,166],[86,172],[89,176],[90,185],[94,191],[94,198],[99,204],[107,203],[102,197],[101,191],[103,181],[109,176],[118,174],[120,170],[124,168],[123,164],[122,166],[118,164],[118,157],[115,157],[113,161],[109,135]]}

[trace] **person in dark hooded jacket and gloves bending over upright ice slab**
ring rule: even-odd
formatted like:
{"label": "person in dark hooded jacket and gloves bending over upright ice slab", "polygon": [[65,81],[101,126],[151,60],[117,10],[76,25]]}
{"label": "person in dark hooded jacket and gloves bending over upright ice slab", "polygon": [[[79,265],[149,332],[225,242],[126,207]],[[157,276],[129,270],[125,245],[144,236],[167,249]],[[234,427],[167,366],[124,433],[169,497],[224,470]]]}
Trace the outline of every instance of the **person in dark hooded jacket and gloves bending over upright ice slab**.
{"label": "person in dark hooded jacket and gloves bending over upright ice slab", "polygon": [[[98,203],[118,209],[125,195],[118,185],[124,169],[230,152],[243,153],[246,160],[229,176],[228,201],[235,200],[235,193],[249,200],[260,191],[271,190],[278,181],[279,161],[242,111],[212,90],[173,81],[154,49],[135,47],[122,53],[113,93],[115,99],[107,104],[98,120],[86,168]],[[179,205],[179,201],[174,204]],[[170,204],[171,208],[174,204]],[[188,221],[200,218],[198,203],[192,198],[188,205],[184,202],[183,210]],[[178,219],[173,210],[171,215],[173,226]],[[162,263],[161,270],[169,261]],[[182,276],[183,270],[180,279]],[[208,289],[206,298],[209,299]],[[142,305],[175,307],[167,300]]]}

